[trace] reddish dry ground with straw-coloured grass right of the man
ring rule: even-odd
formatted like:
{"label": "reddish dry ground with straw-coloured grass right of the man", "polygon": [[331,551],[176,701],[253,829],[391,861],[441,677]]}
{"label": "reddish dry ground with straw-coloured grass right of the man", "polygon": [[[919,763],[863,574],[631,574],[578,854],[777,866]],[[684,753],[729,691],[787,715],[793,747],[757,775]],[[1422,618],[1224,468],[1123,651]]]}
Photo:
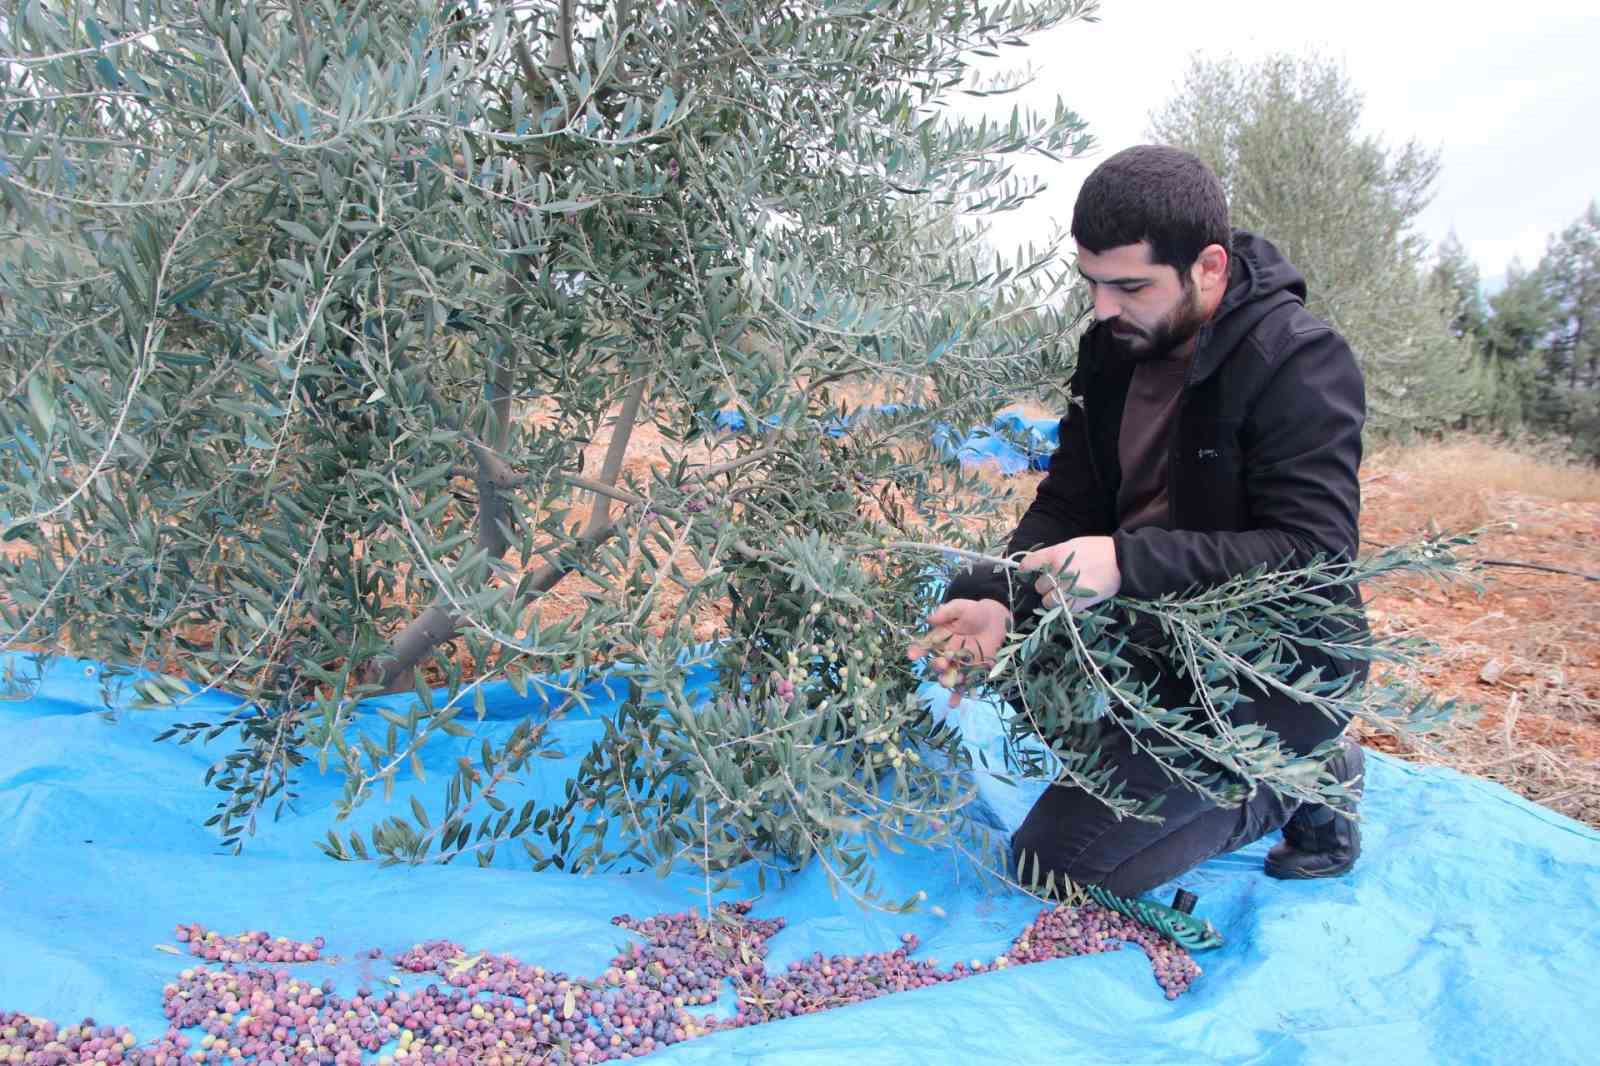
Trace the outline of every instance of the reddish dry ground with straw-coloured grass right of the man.
{"label": "reddish dry ground with straw-coloured grass right of the man", "polygon": [[1578,576],[1600,578],[1600,474],[1467,442],[1379,453],[1362,480],[1368,546],[1482,528],[1464,555],[1578,571],[1486,565],[1482,591],[1416,579],[1370,589],[1374,629],[1440,648],[1403,680],[1467,714],[1438,736],[1365,741],[1600,826],[1600,579]]}

